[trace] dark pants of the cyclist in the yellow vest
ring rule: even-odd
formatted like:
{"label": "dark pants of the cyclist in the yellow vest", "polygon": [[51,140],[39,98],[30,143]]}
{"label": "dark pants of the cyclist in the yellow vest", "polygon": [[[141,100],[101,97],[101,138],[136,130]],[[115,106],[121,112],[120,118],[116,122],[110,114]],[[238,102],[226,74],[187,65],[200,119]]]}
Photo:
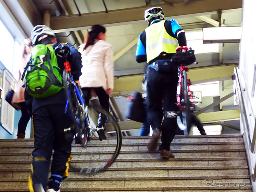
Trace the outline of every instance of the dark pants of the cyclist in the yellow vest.
{"label": "dark pants of the cyclist in the yellow vest", "polygon": [[165,111],[178,111],[177,84],[178,67],[174,67],[171,72],[160,73],[149,67],[147,71],[147,119],[152,129],[158,128],[162,131],[162,144],[159,150],[170,150],[177,129],[176,118],[164,118]]}

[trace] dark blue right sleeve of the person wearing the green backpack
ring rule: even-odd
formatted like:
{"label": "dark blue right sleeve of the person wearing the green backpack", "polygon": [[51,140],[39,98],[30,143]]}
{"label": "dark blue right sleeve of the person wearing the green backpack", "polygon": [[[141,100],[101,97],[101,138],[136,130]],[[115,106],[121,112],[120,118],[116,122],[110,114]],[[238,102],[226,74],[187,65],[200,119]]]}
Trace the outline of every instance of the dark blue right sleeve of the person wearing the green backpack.
{"label": "dark blue right sleeve of the person wearing the green backpack", "polygon": [[73,76],[74,81],[79,80],[80,75],[82,75],[82,57],[80,52],[74,48],[71,44],[66,44],[70,48],[70,56],[68,57],[68,62],[71,67],[71,74]]}

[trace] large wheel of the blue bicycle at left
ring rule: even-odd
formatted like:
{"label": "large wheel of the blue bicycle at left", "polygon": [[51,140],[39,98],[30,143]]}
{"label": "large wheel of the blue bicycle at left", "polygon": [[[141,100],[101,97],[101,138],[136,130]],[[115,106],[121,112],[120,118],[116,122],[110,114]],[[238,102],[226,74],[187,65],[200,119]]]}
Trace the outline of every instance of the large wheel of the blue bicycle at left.
{"label": "large wheel of the blue bicycle at left", "polygon": [[[97,133],[98,115],[102,113],[108,117],[104,128],[106,140],[100,140]],[[117,158],[121,146],[122,135],[120,128],[112,115],[102,108],[88,106],[85,118],[87,145],[72,145],[72,161],[70,168],[83,174],[92,174],[108,168]]]}

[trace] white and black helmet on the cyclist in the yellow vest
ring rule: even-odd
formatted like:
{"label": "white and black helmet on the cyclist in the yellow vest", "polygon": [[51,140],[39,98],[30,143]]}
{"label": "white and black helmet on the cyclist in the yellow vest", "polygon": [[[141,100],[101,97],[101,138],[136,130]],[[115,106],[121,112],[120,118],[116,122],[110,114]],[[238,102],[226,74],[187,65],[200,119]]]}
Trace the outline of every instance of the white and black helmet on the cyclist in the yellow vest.
{"label": "white and black helmet on the cyclist in the yellow vest", "polygon": [[164,12],[161,7],[152,7],[145,11],[144,18],[145,21],[148,23],[148,26],[150,26],[152,20],[164,20]]}

